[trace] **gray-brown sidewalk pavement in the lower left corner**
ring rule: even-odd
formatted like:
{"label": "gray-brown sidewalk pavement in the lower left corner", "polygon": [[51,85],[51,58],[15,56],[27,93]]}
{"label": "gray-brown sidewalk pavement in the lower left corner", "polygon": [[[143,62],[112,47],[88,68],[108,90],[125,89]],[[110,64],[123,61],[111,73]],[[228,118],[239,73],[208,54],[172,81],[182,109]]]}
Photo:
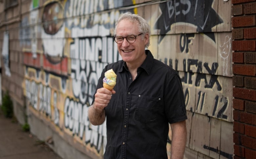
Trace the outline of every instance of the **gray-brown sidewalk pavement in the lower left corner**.
{"label": "gray-brown sidewalk pavement in the lower left corner", "polygon": [[0,110],[0,159],[61,159],[43,141]]}

